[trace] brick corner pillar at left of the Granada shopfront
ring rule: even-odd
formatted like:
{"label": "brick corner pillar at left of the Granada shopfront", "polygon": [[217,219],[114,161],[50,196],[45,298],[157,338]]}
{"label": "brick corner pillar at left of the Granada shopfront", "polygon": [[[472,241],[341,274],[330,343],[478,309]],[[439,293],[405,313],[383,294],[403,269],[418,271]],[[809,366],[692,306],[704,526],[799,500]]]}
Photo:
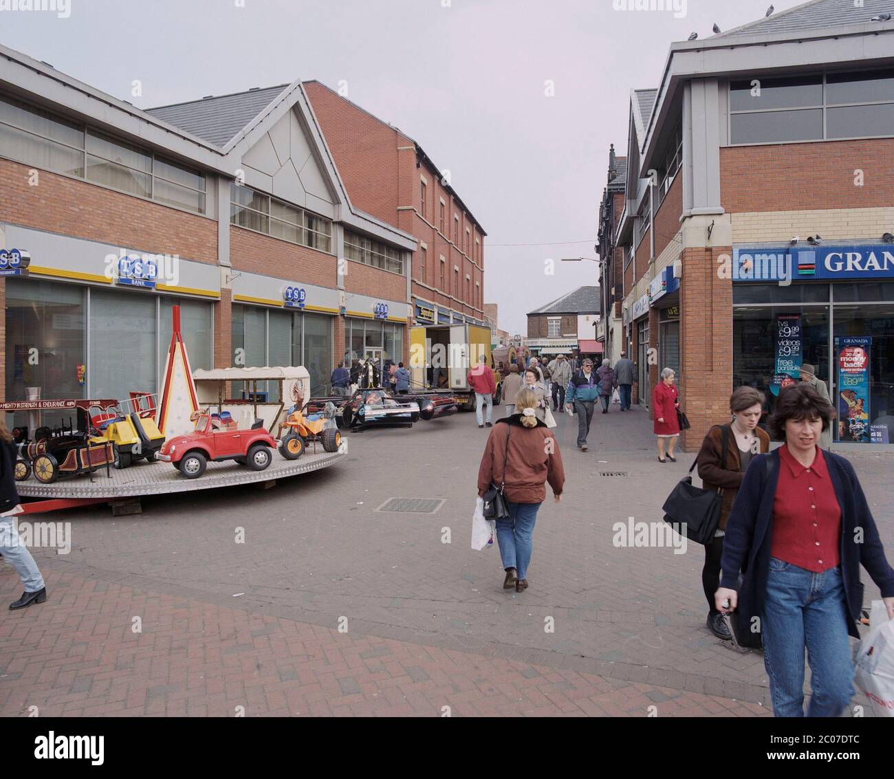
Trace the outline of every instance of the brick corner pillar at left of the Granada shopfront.
{"label": "brick corner pillar at left of the Granada shopfront", "polygon": [[705,432],[730,417],[732,281],[720,278],[718,257],[731,247],[687,247],[679,287],[680,406],[692,428],[684,451],[697,451]]}

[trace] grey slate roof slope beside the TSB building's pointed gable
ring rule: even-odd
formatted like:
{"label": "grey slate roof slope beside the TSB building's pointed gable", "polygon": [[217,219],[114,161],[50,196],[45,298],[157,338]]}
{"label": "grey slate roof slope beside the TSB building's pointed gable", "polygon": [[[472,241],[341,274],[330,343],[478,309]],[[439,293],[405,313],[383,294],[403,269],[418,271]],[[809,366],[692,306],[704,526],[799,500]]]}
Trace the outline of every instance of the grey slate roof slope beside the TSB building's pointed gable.
{"label": "grey slate roof slope beside the TSB building's pointed gable", "polygon": [[288,86],[280,84],[186,103],[159,105],[147,108],[146,113],[223,148]]}

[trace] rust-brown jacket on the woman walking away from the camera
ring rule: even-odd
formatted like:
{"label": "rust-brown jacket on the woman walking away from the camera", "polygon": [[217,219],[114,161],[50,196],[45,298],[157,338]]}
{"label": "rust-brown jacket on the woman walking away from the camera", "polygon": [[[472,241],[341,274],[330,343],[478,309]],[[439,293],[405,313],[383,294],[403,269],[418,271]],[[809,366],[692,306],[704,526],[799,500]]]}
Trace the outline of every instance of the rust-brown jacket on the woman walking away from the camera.
{"label": "rust-brown jacket on the woman walking away from the camera", "polygon": [[561,464],[559,442],[540,420],[537,420],[536,427],[525,427],[520,418],[521,415],[513,414],[494,423],[478,468],[479,497],[490,489],[492,483],[500,484],[503,481],[504,457],[506,498],[510,502],[543,503],[546,499],[546,482],[550,482],[553,494],[561,495],[565,470]]}

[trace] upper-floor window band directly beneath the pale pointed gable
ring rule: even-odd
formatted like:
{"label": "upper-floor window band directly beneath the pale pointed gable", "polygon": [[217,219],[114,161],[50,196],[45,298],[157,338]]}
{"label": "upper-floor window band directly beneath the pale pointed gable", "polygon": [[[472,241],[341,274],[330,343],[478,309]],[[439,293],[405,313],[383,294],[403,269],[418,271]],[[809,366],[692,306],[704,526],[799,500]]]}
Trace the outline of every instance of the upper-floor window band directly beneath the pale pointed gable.
{"label": "upper-floor window band directly beneath the pale pointed gable", "polygon": [[332,249],[328,219],[238,184],[230,187],[230,222],[322,252]]}

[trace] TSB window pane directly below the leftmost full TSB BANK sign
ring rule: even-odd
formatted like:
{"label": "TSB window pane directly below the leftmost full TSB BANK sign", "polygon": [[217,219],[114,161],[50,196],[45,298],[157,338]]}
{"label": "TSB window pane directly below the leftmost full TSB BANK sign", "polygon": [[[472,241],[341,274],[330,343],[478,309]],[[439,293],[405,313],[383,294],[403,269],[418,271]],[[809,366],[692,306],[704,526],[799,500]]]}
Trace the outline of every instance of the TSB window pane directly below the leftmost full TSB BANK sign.
{"label": "TSB window pane directly below the leftmost full TSB BANK sign", "polygon": [[156,392],[156,297],[90,290],[90,391],[126,400],[131,391]]}

